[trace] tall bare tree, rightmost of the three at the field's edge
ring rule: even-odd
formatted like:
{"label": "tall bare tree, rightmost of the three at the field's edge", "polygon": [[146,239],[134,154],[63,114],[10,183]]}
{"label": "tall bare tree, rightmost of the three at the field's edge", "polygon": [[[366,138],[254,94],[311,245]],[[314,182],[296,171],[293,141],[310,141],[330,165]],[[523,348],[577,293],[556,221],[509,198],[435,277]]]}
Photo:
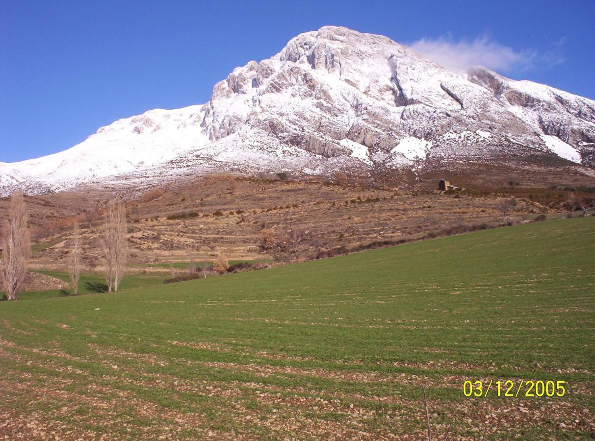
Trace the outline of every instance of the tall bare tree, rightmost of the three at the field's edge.
{"label": "tall bare tree, rightmost of the three at the field's edge", "polygon": [[105,258],[105,282],[108,292],[117,292],[124,276],[128,254],[126,244],[126,210],[124,205],[111,200],[105,213],[103,251]]}

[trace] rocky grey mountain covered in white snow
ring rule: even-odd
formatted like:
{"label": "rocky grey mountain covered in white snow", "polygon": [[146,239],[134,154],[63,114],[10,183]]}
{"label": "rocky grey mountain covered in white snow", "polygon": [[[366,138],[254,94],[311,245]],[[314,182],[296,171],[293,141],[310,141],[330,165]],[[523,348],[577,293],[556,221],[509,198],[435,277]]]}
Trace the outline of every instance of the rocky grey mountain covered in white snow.
{"label": "rocky grey mountain covered in white snow", "polygon": [[453,73],[387,37],[325,26],[234,69],[205,105],[119,119],[63,152],[0,163],[0,194],[211,171],[544,163],[593,175],[593,100],[481,67]]}

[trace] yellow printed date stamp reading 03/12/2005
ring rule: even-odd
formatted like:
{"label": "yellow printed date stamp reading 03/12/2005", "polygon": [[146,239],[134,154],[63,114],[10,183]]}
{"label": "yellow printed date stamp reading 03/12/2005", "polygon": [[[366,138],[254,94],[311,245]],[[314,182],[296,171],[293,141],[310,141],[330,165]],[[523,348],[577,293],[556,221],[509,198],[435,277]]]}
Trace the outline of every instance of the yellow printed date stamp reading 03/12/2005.
{"label": "yellow printed date stamp reading 03/12/2005", "polygon": [[566,382],[562,380],[466,380],[463,395],[486,398],[488,394],[509,397],[564,396]]}

